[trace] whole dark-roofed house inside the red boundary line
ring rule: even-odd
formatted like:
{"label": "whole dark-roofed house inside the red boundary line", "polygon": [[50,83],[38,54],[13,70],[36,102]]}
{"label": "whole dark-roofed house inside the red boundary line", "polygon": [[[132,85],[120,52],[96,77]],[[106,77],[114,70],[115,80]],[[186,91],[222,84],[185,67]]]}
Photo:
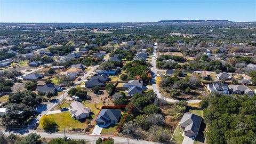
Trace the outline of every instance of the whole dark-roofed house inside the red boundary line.
{"label": "whole dark-roofed house inside the red boundary line", "polygon": [[120,116],[121,110],[119,109],[101,109],[95,121],[100,127],[108,127],[111,124],[118,123]]}

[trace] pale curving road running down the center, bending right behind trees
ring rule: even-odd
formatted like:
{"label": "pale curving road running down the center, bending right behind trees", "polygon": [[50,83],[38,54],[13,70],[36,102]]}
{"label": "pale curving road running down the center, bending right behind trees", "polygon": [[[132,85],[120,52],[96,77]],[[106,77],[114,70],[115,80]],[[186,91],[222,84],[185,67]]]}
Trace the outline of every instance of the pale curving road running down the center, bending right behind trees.
{"label": "pale curving road running down the center, bending right behind trees", "polygon": [[[152,82],[152,87],[153,87],[153,90],[154,92],[157,94],[157,97],[160,98],[160,99],[163,99],[163,100],[166,100],[168,102],[179,102],[180,100],[175,100],[175,99],[170,99],[170,98],[166,98],[164,97],[160,91],[159,91],[159,88],[156,84],[156,78],[157,78],[157,72],[158,71],[166,71],[166,70],[163,70],[163,69],[157,69],[156,68],[156,49],[157,49],[157,43],[154,43],[154,47],[153,47],[153,55],[151,56],[152,57],[152,60],[151,60],[151,64],[153,65],[153,67],[151,68],[151,71],[152,71],[152,79],[151,79],[151,82]],[[188,103],[196,103],[196,102],[200,102],[201,100],[187,100]]]}

